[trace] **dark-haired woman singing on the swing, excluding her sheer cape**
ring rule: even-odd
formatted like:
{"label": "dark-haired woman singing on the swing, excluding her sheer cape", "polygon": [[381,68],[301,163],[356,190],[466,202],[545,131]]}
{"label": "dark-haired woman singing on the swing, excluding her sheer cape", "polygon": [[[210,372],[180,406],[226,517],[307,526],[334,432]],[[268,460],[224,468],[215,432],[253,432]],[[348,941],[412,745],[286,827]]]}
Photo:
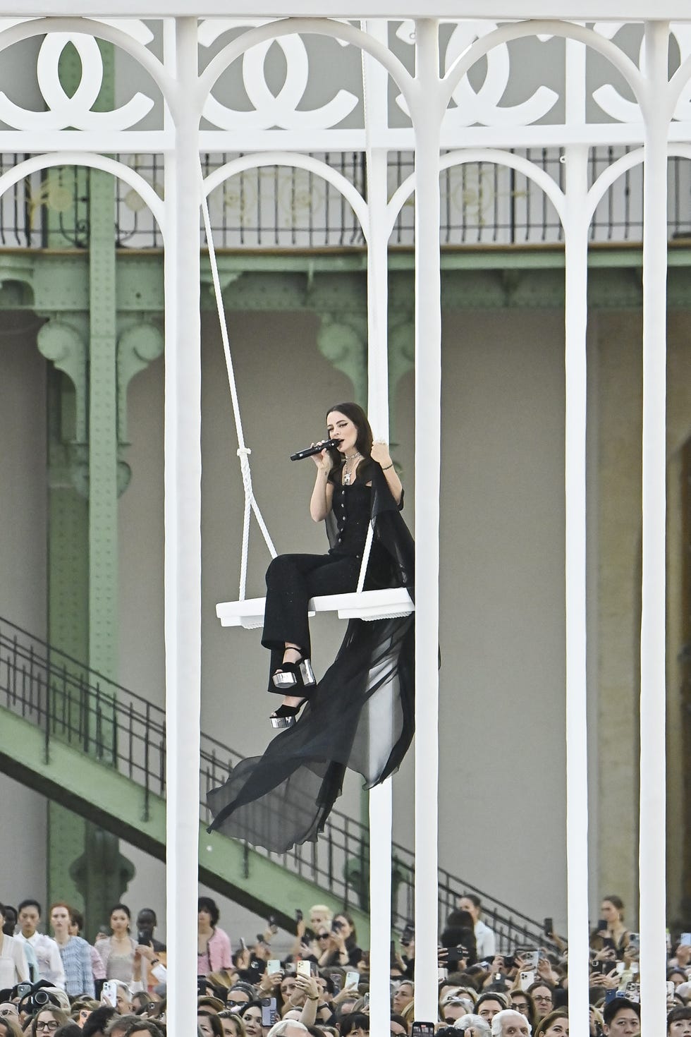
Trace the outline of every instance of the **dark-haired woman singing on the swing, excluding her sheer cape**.
{"label": "dark-haired woman singing on the swing, excluding her sheer cape", "polygon": [[[316,684],[310,661],[308,602],[320,594],[355,590],[372,512],[372,466],[378,465],[391,495],[401,505],[403,487],[388,449],[373,443],[357,403],[337,403],[326,415],[326,440],[338,445],[315,454],[317,477],[310,501],[314,522],[333,516],[336,542],[326,555],[279,555],[266,572],[261,643],[271,651],[269,692],[283,693],[271,713],[273,727],[291,727]],[[313,443],[312,446],[315,446]],[[374,542],[367,587],[386,586],[385,549]]]}

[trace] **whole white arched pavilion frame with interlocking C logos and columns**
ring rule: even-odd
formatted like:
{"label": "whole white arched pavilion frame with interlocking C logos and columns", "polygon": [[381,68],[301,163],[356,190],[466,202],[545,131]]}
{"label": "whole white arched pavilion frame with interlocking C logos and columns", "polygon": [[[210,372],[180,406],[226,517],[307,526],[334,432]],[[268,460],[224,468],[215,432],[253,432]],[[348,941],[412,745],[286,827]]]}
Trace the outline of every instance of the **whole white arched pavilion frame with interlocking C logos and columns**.
{"label": "whole white arched pavilion frame with interlocking C logos and columns", "polygon": [[[385,385],[386,249],[402,206],[415,205],[416,680],[416,1015],[436,1018],[439,573],[439,173],[483,162],[519,171],[550,199],[566,246],[567,317],[567,784],[569,989],[574,1033],[587,1033],[587,770],[585,725],[585,331],[588,227],[617,177],[643,163],[643,548],[641,625],[640,930],[643,1032],[661,1033],[665,1011],[664,615],[665,615],[665,270],[668,153],[691,157],[691,11],[688,0],[605,2],[569,9],[536,0],[470,4],[438,0],[420,16],[328,3],[300,17],[270,19],[227,0],[198,4],[74,0],[74,17],[40,17],[65,4],[26,0],[26,18],[0,2],[0,53],[26,48],[35,83],[0,81],[0,152],[32,156],[0,177],[0,192],[37,170],[74,163],[122,178],[152,211],[164,234],[166,282],[166,644],[168,690],[169,1027],[196,1026],[195,960],[200,701],[200,319],[199,163],[202,153],[243,152],[211,172],[211,191],[242,169],[283,163],[322,176],[351,205],[367,244],[370,389]],[[256,4],[254,5],[257,6]],[[365,7],[373,5],[366,4]],[[294,4],[275,0],[273,16]],[[478,7],[481,9],[479,10]],[[593,7],[599,9],[595,10]],[[229,9],[230,8],[230,9]],[[486,9],[485,9],[486,8]],[[520,9],[519,9],[520,8]],[[582,9],[580,9],[582,8]],[[198,20],[198,13],[203,17]],[[523,20],[525,15],[536,21]],[[89,16],[85,18],[79,15]],[[361,18],[396,17],[359,22]],[[450,18],[459,21],[450,22]],[[479,19],[482,18],[482,21]],[[350,21],[350,19],[357,20]],[[437,21],[438,19],[438,21]],[[594,19],[600,21],[594,23]],[[646,19],[649,21],[646,21]],[[664,21],[667,19],[668,21]],[[675,24],[669,24],[669,21]],[[366,31],[363,28],[365,26]],[[631,38],[635,36],[632,46]],[[104,65],[96,39],[125,62],[125,96],[94,111]],[[675,69],[668,73],[670,38]],[[37,41],[40,40],[38,44]],[[60,55],[76,48],[81,80],[68,95]],[[279,53],[280,52],[280,53]],[[521,93],[526,54],[543,82]],[[159,57],[162,54],[163,57]],[[273,55],[285,66],[272,88]],[[325,55],[325,57],[324,57]],[[598,61],[591,60],[593,55]],[[320,61],[322,64],[320,66]],[[328,75],[323,74],[323,61]],[[363,62],[365,75],[363,75]],[[27,60],[27,68],[29,62]],[[321,73],[319,68],[321,67]],[[201,71],[200,71],[201,69]],[[441,73],[439,72],[441,69]],[[32,77],[27,74],[27,81]],[[132,79],[132,83],[129,80]],[[364,95],[367,88],[367,96]],[[24,92],[22,92],[24,90]],[[629,147],[588,178],[593,148]],[[559,175],[513,149],[557,148]],[[366,198],[310,152],[367,153]],[[387,157],[414,155],[394,185]],[[163,185],[147,183],[137,156],[156,153]],[[134,159],[117,162],[109,156]],[[620,157],[621,156],[621,157]],[[563,174],[563,177],[562,177]],[[161,201],[156,190],[163,188]],[[378,374],[373,372],[378,371]],[[382,804],[382,811],[388,809]],[[384,823],[390,823],[385,820]],[[373,882],[388,860],[373,862]],[[385,884],[384,884],[385,885]],[[381,889],[382,887],[378,887]],[[193,892],[194,891],[194,892]],[[388,1013],[388,935],[373,943],[372,1027]],[[376,946],[375,946],[376,945]]]}

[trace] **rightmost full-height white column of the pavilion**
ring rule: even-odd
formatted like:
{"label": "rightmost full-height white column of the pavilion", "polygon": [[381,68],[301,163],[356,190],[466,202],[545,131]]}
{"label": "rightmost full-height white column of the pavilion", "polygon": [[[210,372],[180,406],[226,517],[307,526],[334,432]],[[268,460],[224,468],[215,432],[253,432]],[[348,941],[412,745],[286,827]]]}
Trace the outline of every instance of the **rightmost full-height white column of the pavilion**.
{"label": "rightmost full-height white column of the pavilion", "polygon": [[665,493],[667,55],[669,26],[645,24],[643,469],[640,623],[640,1001],[644,1034],[665,1033]]}

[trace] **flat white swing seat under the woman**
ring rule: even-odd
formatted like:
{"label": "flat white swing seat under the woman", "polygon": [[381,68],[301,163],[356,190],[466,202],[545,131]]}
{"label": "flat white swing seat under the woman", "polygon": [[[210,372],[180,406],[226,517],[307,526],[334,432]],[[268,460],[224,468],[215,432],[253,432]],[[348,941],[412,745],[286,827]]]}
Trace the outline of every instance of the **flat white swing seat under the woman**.
{"label": "flat white swing seat under the woman", "polygon": [[[243,601],[221,601],[215,614],[222,626],[243,626],[252,630],[264,625],[265,597],[248,597]],[[349,594],[321,594],[310,599],[308,615],[317,612],[338,612],[339,619],[395,619],[415,611],[405,587],[383,590],[351,591]]]}

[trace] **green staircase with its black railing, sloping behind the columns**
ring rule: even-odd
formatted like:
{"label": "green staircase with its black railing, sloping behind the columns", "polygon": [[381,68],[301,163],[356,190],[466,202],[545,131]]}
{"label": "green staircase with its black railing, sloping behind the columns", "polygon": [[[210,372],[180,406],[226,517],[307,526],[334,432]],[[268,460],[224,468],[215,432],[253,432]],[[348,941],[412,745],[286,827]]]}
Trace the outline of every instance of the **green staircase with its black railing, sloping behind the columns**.
{"label": "green staircase with its black railing, sloping behind the columns", "polygon": [[[165,711],[0,618],[0,770],[62,803],[159,860],[166,848]],[[273,854],[206,834],[206,790],[242,757],[201,735],[200,879],[287,928],[316,900],[355,918],[369,940],[368,830],[332,811],[316,844]],[[394,856],[393,925],[413,917],[414,854]],[[439,922],[463,893],[477,893],[500,950],[542,945],[541,925],[471,884],[439,869]]]}

